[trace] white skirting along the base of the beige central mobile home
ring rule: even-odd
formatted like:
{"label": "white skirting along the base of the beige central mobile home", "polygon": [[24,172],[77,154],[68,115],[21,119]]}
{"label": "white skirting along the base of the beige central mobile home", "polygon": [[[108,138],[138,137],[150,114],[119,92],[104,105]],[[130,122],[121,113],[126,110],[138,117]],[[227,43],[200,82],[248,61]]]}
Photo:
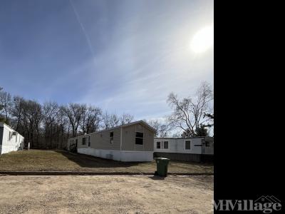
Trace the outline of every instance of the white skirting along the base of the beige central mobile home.
{"label": "white skirting along the base of the beige central mobile home", "polygon": [[152,151],[115,151],[95,148],[77,148],[77,152],[123,162],[153,161]]}

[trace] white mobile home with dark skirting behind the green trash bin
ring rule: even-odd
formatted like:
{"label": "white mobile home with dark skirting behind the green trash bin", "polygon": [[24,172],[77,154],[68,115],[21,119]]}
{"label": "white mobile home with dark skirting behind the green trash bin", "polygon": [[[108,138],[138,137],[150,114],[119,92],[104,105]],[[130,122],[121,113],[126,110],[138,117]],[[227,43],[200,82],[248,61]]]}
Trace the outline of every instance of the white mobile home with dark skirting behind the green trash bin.
{"label": "white mobile home with dark skirting behind the green trash bin", "polygon": [[178,161],[207,161],[214,156],[214,138],[155,138],[156,157]]}

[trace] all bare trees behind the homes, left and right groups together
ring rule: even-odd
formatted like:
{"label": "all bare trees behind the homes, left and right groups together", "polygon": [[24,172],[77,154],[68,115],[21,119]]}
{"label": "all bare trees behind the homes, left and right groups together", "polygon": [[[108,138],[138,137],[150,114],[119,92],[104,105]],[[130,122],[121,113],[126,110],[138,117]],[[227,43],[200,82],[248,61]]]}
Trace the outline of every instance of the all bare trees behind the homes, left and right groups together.
{"label": "all bare trees behind the homes, left and right groups together", "polygon": [[[201,83],[194,96],[179,99],[170,93],[172,109],[164,122],[145,120],[158,137],[208,136],[214,126],[213,93],[207,82]],[[0,87],[0,122],[14,128],[30,142],[31,148],[66,148],[68,138],[113,128],[134,121],[129,113],[117,115],[85,103],[43,104],[21,96],[11,96]]]}

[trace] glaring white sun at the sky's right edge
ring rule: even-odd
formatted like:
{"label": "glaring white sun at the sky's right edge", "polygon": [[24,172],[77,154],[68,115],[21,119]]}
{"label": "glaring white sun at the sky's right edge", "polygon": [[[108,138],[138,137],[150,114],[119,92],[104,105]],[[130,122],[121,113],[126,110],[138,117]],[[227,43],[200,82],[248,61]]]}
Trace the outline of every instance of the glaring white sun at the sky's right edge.
{"label": "glaring white sun at the sky's right edge", "polygon": [[214,44],[214,26],[209,25],[197,31],[193,36],[190,49],[195,53],[203,53],[211,48]]}

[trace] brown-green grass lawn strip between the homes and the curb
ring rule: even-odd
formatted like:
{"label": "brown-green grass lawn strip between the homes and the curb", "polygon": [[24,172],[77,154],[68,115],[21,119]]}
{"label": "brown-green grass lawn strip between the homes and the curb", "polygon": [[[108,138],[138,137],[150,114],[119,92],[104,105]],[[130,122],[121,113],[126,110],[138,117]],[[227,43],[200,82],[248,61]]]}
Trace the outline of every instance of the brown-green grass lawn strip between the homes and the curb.
{"label": "brown-green grass lawn strip between the homes and the curb", "polygon": [[[154,173],[155,161],[145,163],[123,163],[63,150],[15,151],[0,156],[0,171],[94,171]],[[171,173],[213,173],[212,164],[170,161]]]}

